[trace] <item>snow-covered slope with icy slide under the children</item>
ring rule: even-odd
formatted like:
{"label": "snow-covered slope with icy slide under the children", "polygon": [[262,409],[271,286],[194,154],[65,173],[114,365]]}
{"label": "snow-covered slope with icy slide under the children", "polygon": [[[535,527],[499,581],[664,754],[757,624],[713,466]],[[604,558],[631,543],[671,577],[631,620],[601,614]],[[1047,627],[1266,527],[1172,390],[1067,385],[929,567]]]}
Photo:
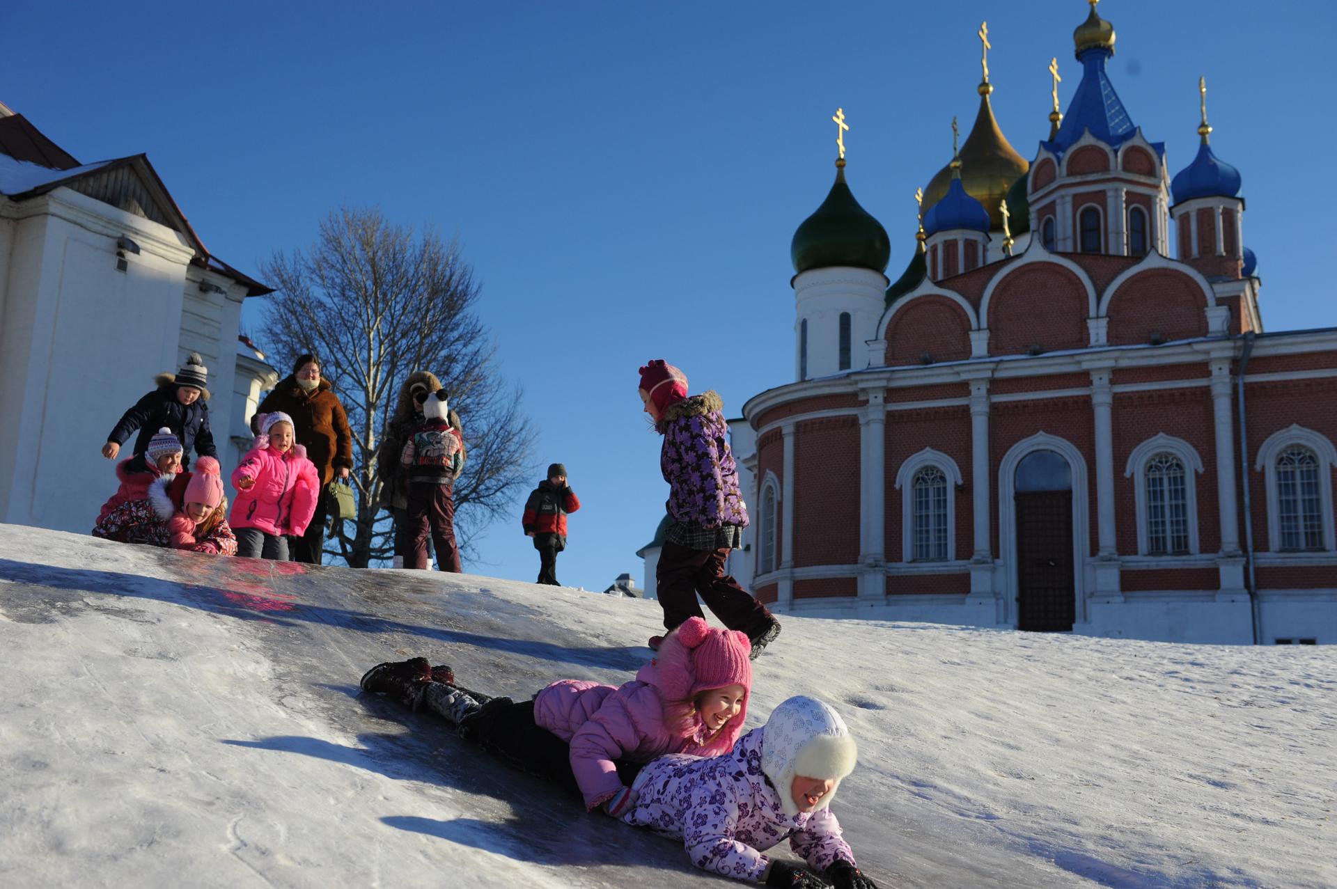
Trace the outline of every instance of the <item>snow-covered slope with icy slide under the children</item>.
{"label": "snow-covered slope with icy slide under the children", "polygon": [[[729,885],[357,688],[410,654],[512,695],[622,682],[659,618],[0,525],[0,885]],[[1330,650],[782,620],[750,723],[845,717],[834,810],[882,889],[1337,885]]]}

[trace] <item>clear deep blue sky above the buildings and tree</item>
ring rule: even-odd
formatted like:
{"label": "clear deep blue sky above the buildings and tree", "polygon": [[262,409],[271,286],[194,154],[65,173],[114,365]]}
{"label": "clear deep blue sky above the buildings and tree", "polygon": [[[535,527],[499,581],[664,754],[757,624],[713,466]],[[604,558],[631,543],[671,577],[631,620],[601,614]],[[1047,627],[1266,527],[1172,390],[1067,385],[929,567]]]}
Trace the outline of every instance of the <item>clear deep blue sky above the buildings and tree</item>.
{"label": "clear deep blue sky above the buildings and tree", "polygon": [[[913,193],[973,120],[988,19],[993,107],[1024,156],[1048,134],[1051,56],[1079,80],[1082,0],[909,3],[138,3],[5,12],[0,102],[83,162],[147,152],[210,250],[251,274],[332,209],[459,237],[536,461],[584,509],[563,583],[640,579],[667,488],[636,368],[667,358],[735,416],[793,374],[789,241],[848,176],[913,249]],[[1330,3],[1115,1],[1110,74],[1179,170],[1199,75],[1243,175],[1269,330],[1337,325]],[[258,301],[257,301],[258,302]],[[246,326],[261,341],[259,313]],[[465,417],[465,422],[468,418]],[[90,455],[94,445],[90,445]],[[537,481],[537,475],[535,477]],[[532,579],[519,513],[467,569]]]}

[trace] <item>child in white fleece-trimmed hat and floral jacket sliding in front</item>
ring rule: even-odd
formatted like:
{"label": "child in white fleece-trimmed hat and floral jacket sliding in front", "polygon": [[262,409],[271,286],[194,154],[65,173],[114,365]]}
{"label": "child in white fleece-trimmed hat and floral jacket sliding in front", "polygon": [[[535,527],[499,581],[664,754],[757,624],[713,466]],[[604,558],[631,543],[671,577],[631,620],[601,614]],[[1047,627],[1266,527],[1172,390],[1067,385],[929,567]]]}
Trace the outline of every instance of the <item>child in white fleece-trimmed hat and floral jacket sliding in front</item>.
{"label": "child in white fleece-trimmed hat and floral jacket sliding in front", "polygon": [[814,698],[789,698],[722,757],[668,754],[651,762],[632,782],[622,821],[681,840],[694,865],[734,880],[826,886],[761,852],[789,838],[837,889],[877,889],[828,807],[856,758],[840,714]]}

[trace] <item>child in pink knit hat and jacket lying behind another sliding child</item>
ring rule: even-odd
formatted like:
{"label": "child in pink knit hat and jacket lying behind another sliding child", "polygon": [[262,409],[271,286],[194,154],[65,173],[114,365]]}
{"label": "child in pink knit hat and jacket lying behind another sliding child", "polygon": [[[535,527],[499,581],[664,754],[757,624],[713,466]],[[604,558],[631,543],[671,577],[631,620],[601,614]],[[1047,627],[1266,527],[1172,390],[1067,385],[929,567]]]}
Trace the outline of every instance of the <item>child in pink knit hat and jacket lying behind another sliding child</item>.
{"label": "child in pink knit hat and jacket lying behind another sliding child", "polygon": [[362,676],[382,691],[425,706],[460,735],[511,765],[579,790],[587,809],[620,815],[631,778],[666,753],[714,757],[742,733],[751,691],[747,635],[689,618],[664,636],[659,655],[620,687],[560,679],[533,701],[488,698],[455,684],[449,667],[425,658],[382,663]]}

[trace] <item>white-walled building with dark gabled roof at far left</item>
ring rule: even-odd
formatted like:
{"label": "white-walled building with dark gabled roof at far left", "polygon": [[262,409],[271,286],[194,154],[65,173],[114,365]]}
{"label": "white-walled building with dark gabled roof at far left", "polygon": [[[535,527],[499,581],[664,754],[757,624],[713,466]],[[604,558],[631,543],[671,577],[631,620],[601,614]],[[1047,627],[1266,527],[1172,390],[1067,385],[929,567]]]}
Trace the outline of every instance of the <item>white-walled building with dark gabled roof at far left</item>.
{"label": "white-walled building with dark gabled roof at far left", "polygon": [[116,489],[107,433],[191,352],[226,475],[273,376],[238,356],[242,301],[266,293],[209,253],[146,155],[80,164],[0,104],[0,521],[88,531]]}

